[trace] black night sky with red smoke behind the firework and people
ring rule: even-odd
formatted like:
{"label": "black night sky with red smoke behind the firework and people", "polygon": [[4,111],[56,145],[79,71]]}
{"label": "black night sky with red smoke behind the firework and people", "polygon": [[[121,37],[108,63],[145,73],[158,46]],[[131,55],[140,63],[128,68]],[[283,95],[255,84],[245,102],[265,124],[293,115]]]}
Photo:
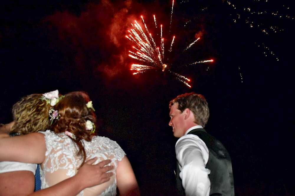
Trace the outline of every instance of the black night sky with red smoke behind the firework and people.
{"label": "black night sky with red smoke behind the firework and people", "polygon": [[[236,195],[295,195],[293,1],[176,0],[172,21],[171,8],[170,0],[1,1],[0,123],[22,96],[86,91],[98,134],[124,149],[142,195],[174,195],[168,104],[194,91],[209,103],[205,129],[231,155]],[[125,35],[142,15],[160,40],[154,14],[169,70],[191,88],[161,69],[132,74],[138,61]]]}

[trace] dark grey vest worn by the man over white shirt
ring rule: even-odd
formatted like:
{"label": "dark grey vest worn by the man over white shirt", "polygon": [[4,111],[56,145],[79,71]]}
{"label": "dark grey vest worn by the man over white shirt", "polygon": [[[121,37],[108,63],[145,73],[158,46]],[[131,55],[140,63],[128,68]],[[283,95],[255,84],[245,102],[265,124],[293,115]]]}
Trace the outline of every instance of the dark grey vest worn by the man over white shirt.
{"label": "dark grey vest worn by the man over white shirt", "polygon": [[[209,160],[206,164],[206,168],[211,170],[209,174],[211,182],[210,196],[234,196],[235,190],[234,177],[232,175],[232,162],[229,153],[222,143],[212,135],[208,134],[204,129],[194,129],[188,134],[199,136],[209,149]],[[177,190],[179,195],[185,195],[179,173],[180,170],[177,163]]]}

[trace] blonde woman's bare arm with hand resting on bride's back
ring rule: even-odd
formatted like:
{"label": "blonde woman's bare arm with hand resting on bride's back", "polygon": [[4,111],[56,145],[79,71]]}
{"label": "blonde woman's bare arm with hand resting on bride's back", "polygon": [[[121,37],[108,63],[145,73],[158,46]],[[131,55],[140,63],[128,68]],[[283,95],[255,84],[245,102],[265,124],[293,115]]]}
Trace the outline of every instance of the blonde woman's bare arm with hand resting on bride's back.
{"label": "blonde woman's bare arm with hand resting on bride's back", "polygon": [[[52,187],[34,192],[35,177],[31,171],[14,171],[0,173],[0,196],[26,195],[78,195],[83,189],[102,184],[113,175],[108,172],[114,166],[105,166],[111,160],[104,160],[92,165],[97,158],[87,161],[73,177],[70,177]],[[106,173],[107,172],[107,173]]]}

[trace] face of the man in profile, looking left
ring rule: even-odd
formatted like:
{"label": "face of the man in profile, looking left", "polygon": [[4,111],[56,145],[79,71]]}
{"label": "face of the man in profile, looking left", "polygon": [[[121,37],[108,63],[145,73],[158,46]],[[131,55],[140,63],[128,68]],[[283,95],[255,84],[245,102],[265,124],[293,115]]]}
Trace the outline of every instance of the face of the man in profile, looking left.
{"label": "face of the man in profile, looking left", "polygon": [[172,127],[173,135],[176,138],[180,138],[184,135],[184,113],[178,110],[178,103],[174,103],[170,109],[169,116],[171,120],[169,121],[169,126]]}

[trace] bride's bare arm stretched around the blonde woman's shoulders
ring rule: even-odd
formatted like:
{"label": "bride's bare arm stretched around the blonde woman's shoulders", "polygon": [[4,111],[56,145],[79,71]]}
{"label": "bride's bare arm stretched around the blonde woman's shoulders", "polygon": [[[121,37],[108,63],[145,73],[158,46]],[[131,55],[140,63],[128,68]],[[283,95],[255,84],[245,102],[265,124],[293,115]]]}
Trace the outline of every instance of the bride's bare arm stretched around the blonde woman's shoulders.
{"label": "bride's bare arm stretched around the blonde woman's shoulders", "polygon": [[0,161],[42,163],[45,153],[45,137],[42,133],[0,138]]}

